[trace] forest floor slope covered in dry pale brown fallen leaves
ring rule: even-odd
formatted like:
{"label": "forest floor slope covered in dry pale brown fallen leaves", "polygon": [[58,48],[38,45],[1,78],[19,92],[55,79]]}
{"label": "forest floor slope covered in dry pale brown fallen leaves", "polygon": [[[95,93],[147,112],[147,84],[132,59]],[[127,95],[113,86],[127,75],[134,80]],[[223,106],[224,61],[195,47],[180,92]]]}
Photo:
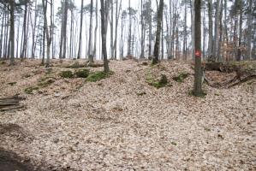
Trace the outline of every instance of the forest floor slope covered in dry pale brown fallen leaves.
{"label": "forest floor slope covered in dry pale brown fallen leaves", "polygon": [[[0,97],[25,98],[0,112],[0,170],[6,151],[36,170],[256,170],[256,80],[193,97],[187,62],[110,61],[97,82],[60,77],[72,62],[0,64]],[[168,86],[148,84],[161,74]]]}

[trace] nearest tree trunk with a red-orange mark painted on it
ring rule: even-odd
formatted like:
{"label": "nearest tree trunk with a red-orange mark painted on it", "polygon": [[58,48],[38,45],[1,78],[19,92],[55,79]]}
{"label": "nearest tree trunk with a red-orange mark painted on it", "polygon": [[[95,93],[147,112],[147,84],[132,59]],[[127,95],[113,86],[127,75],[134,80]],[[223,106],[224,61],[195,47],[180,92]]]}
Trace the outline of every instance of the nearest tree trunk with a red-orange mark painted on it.
{"label": "nearest tree trunk with a red-orange mark painted on it", "polygon": [[197,97],[203,94],[202,91],[202,71],[201,71],[201,1],[194,0],[194,37],[195,39],[195,66],[194,66],[194,86],[193,94]]}

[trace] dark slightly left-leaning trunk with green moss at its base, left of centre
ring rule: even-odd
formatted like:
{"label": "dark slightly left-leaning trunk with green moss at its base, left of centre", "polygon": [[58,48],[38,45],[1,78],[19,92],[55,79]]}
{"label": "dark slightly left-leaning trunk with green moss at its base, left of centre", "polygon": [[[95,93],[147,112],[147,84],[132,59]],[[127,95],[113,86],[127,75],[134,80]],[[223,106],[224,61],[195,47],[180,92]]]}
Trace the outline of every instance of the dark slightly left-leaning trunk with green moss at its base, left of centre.
{"label": "dark slightly left-leaning trunk with green moss at its base, left of centre", "polygon": [[107,47],[106,47],[106,27],[105,27],[105,17],[106,17],[106,6],[108,6],[106,4],[106,2],[104,2],[104,0],[100,0],[100,4],[101,4],[101,10],[100,10],[100,14],[101,14],[101,35],[102,35],[102,53],[104,56],[104,72],[108,73],[110,72],[110,68],[109,68],[109,62],[108,62],[108,54],[107,54]]}

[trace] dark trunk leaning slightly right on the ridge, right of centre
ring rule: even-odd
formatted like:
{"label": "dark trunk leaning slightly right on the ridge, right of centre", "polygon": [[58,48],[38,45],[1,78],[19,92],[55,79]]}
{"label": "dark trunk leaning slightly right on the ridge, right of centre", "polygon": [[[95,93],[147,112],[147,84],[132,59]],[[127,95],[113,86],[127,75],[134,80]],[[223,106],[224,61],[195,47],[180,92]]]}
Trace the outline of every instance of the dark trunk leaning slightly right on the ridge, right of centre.
{"label": "dark trunk leaning slightly right on the ridge, right of centre", "polygon": [[158,8],[158,25],[157,25],[157,33],[156,33],[156,42],[154,46],[154,58],[152,64],[156,64],[159,62],[159,44],[160,44],[160,35],[161,35],[161,27],[163,21],[163,10],[164,10],[164,0],[160,0],[159,8]]}

